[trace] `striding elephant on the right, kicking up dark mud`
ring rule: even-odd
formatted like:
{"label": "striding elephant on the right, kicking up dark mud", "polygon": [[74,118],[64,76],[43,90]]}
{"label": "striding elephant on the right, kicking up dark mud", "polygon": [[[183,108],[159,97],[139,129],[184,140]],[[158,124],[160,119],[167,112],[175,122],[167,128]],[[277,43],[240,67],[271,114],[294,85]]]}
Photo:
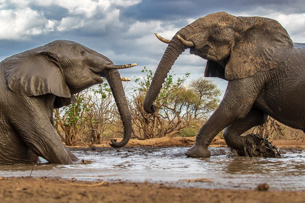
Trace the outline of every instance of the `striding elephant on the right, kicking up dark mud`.
{"label": "striding elephant on the right, kicking up dark mud", "polygon": [[[168,46],[144,99],[147,113],[156,111],[153,102],[162,83],[186,49],[207,60],[205,77],[228,81],[222,101],[185,152],[187,157],[210,157],[208,146],[223,129],[233,154],[264,157],[265,145],[270,142],[242,134],[264,124],[268,116],[305,130],[305,44],[293,43],[279,22],[218,12],[198,18],[171,40],[156,35]],[[279,155],[272,150],[272,157]]]}

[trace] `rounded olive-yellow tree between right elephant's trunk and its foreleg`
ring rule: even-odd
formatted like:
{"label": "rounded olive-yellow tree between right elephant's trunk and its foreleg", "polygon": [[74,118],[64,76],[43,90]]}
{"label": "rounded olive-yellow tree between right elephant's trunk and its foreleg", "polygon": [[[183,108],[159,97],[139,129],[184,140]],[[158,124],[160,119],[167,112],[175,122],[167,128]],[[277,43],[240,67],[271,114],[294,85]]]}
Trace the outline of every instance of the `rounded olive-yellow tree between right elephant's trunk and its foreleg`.
{"label": "rounded olive-yellow tree between right elephant's trunk and its foreleg", "polygon": [[198,129],[218,107],[220,95],[221,90],[212,80],[199,77],[171,94],[161,114],[170,121],[171,130]]}

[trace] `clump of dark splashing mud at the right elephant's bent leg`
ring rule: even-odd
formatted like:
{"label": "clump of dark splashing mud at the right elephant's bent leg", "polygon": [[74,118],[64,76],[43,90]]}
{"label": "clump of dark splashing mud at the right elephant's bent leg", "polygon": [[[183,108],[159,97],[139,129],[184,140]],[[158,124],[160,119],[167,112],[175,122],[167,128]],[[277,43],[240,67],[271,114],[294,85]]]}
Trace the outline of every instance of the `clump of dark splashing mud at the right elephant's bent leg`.
{"label": "clump of dark splashing mud at the right elephant's bent leg", "polygon": [[228,146],[233,155],[246,157],[280,157],[279,148],[258,134],[250,133],[242,136],[243,149]]}

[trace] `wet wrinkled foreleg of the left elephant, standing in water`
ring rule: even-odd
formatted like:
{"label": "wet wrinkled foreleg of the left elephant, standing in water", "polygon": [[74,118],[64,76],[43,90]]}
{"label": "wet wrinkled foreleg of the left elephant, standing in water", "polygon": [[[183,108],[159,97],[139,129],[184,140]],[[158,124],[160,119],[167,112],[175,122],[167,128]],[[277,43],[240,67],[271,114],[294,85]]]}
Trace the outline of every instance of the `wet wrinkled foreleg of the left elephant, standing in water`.
{"label": "wet wrinkled foreleg of the left elephant, standing in water", "polygon": [[[10,122],[25,145],[50,163],[73,164],[77,158],[65,148],[56,133],[49,116],[52,109],[41,102],[40,98],[32,98],[28,106],[30,108],[24,108],[18,111],[20,114],[11,117]],[[22,117],[23,120],[19,119]]]}

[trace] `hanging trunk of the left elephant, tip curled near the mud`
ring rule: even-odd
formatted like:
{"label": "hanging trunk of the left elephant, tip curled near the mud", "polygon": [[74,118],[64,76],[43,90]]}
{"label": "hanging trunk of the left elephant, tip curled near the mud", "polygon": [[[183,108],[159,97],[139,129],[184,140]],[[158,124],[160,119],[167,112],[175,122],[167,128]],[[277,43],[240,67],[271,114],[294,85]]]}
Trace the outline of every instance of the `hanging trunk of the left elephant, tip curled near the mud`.
{"label": "hanging trunk of the left elephant, tip curled near the mud", "polygon": [[127,99],[125,97],[124,88],[122,85],[120,73],[118,70],[106,70],[108,73],[106,75],[106,79],[111,88],[114,100],[116,101],[116,105],[118,107],[124,128],[124,137],[120,142],[116,142],[112,140],[110,144],[114,148],[124,147],[130,137],[132,132],[132,123],[131,123],[131,114],[128,108]]}

